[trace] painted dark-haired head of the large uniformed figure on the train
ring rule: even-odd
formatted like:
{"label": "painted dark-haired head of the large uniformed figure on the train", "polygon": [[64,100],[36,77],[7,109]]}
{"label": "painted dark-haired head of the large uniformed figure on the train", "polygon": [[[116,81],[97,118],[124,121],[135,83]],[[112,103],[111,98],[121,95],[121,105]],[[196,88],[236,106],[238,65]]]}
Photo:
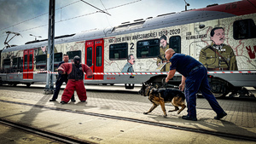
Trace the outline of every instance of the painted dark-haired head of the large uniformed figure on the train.
{"label": "painted dark-haired head of the large uniformed figure on the train", "polygon": [[215,27],[211,31],[211,40],[216,44],[220,45],[224,43],[224,28],[223,27]]}

